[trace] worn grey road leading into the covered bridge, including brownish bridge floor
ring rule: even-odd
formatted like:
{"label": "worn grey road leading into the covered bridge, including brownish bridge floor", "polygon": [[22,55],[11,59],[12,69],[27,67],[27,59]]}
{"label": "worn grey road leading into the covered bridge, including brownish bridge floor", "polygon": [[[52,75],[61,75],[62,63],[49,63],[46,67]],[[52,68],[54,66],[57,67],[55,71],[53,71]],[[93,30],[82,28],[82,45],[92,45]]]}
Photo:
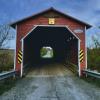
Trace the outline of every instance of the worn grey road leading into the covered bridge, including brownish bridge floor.
{"label": "worn grey road leading into the covered bridge, including brownish bridge floor", "polygon": [[31,71],[0,100],[100,100],[100,88],[74,76],[61,64],[51,64]]}

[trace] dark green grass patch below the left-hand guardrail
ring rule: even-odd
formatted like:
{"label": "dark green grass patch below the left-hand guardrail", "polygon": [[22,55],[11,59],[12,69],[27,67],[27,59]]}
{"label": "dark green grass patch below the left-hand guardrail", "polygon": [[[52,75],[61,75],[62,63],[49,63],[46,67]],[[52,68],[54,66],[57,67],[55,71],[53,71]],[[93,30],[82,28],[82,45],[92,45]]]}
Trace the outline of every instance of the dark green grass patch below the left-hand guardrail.
{"label": "dark green grass patch below the left-hand guardrail", "polygon": [[17,79],[9,78],[0,82],[0,95],[15,86]]}

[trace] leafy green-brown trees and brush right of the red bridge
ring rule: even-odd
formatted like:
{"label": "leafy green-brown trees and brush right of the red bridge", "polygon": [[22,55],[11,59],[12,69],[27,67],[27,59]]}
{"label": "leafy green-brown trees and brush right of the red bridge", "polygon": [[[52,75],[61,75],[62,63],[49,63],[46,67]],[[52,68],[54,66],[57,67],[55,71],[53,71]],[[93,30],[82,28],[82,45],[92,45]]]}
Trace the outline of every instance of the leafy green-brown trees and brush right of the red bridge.
{"label": "leafy green-brown trees and brush right of the red bridge", "polygon": [[95,36],[92,36],[92,41],[94,47],[87,50],[88,68],[100,72],[100,34],[95,33]]}

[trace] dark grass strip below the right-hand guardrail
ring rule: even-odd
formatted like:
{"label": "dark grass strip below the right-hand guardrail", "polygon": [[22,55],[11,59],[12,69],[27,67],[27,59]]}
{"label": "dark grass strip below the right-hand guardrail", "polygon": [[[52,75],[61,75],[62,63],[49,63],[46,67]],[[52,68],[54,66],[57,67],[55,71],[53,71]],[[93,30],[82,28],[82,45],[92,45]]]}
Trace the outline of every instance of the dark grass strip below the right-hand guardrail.
{"label": "dark grass strip below the right-hand guardrail", "polygon": [[94,77],[91,77],[91,76],[82,77],[82,79],[84,81],[91,83],[92,85],[95,85],[95,86],[100,88],[100,79],[94,78]]}

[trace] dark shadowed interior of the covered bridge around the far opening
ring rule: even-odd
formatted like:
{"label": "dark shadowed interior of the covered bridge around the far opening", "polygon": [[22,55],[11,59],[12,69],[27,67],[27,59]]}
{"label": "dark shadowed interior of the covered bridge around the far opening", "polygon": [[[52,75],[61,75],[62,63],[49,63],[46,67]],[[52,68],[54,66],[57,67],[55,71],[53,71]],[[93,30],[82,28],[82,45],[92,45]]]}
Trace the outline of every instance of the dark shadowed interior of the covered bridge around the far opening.
{"label": "dark shadowed interior of the covered bridge around the far opening", "polygon": [[[41,58],[40,50],[53,49],[53,58]],[[38,26],[24,39],[23,65],[64,62],[78,64],[78,39],[66,27]]]}

